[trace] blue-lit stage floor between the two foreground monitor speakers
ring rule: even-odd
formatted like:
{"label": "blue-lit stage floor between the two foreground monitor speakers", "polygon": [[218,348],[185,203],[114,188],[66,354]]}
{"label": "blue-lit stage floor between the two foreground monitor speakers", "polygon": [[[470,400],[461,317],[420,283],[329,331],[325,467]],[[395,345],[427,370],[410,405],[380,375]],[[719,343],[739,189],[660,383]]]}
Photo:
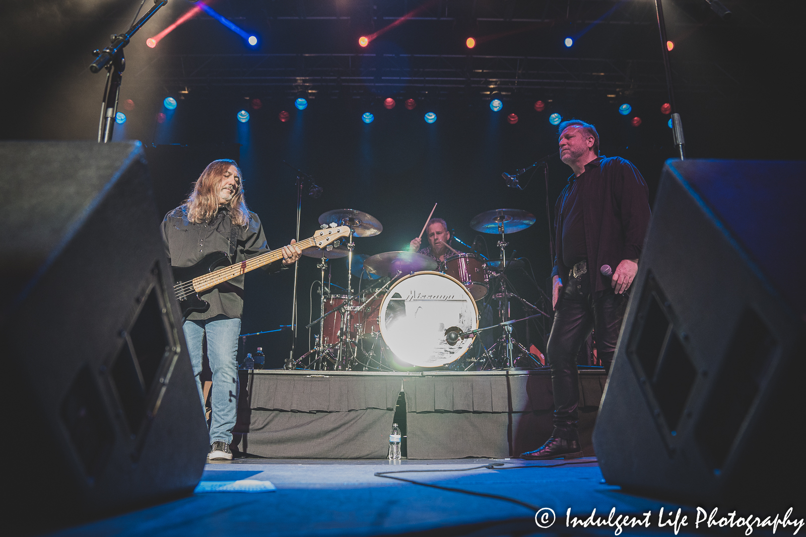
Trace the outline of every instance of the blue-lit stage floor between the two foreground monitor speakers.
{"label": "blue-lit stage floor between the two foreground monitor speakers", "polygon": [[[504,466],[477,468],[492,463]],[[534,520],[535,510],[526,506],[374,475],[396,470],[439,470],[393,475],[513,498],[553,510],[556,520],[541,529]],[[618,487],[607,485],[594,458],[539,462],[404,460],[400,465],[388,461],[241,459],[208,464],[202,481],[243,479],[271,481],[276,490],[251,494],[197,493],[51,535],[617,535],[615,526],[567,527],[569,507],[572,517],[583,520],[594,508],[596,517],[602,515],[605,520],[613,507],[616,516],[612,520],[620,514],[638,515],[643,520],[642,513],[651,511],[649,528],[628,527],[621,535],[675,535],[674,527],[658,527],[659,510],[664,508],[666,521],[669,511],[676,512],[679,507],[625,494]],[[703,535],[718,530],[708,530],[703,524],[696,530],[694,507],[683,506],[683,514],[688,514],[689,524],[679,527],[677,535]],[[792,527],[783,531],[779,528],[778,533],[792,535],[792,531]],[[754,535],[763,533],[754,531]]]}

